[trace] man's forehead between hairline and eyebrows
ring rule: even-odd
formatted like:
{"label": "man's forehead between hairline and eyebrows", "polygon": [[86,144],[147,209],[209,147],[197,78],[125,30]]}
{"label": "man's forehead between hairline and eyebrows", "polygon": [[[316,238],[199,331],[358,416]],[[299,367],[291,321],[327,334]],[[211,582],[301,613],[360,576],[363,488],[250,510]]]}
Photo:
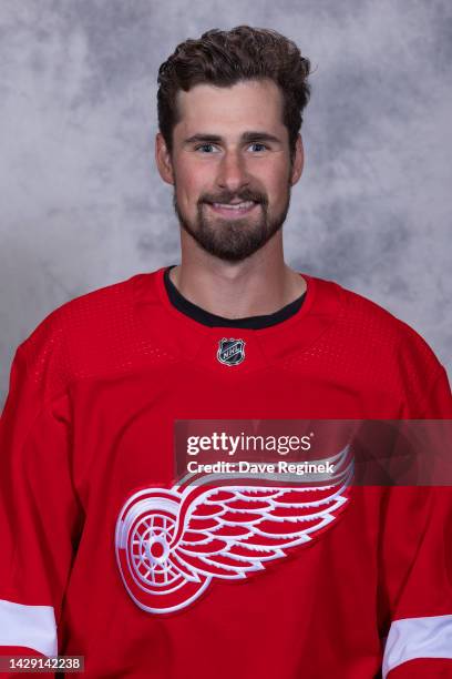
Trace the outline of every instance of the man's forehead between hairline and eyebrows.
{"label": "man's forehead between hairline and eyebrows", "polygon": [[239,132],[243,129],[281,132],[282,94],[273,80],[248,80],[230,87],[197,84],[177,93],[175,132]]}

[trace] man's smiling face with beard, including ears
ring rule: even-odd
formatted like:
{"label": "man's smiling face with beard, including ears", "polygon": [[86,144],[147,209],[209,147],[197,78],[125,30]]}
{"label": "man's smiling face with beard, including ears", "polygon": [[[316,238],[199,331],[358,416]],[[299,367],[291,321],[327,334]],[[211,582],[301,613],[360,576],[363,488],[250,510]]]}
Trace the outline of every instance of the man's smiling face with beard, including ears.
{"label": "man's smiling face with beard, including ears", "polygon": [[282,226],[301,173],[300,141],[290,162],[282,95],[270,80],[199,84],[181,91],[177,105],[164,179],[181,225],[210,254],[244,260]]}

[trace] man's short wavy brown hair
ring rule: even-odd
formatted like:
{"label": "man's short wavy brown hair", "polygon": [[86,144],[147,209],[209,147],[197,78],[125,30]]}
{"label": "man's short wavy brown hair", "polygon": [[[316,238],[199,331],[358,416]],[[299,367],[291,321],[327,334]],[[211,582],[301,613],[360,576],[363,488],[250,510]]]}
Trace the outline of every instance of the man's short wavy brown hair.
{"label": "man's short wavy brown hair", "polygon": [[270,29],[213,29],[197,40],[181,42],[158,69],[158,126],[170,153],[173,129],[178,122],[179,90],[187,92],[199,83],[229,87],[243,80],[269,78],[282,92],[282,121],[294,154],[301,111],[310,97],[309,72],[310,61],[301,57],[295,42]]}

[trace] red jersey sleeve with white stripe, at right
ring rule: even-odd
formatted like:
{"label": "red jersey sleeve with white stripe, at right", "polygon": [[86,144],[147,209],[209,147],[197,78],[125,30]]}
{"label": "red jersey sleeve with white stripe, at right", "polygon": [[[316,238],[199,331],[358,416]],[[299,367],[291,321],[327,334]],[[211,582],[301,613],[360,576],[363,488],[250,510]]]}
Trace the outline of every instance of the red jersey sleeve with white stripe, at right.
{"label": "red jersey sleeve with white stripe, at right", "polygon": [[[452,418],[442,367],[425,394],[424,418]],[[452,487],[399,487],[389,497],[381,551],[391,610],[383,679],[452,679]]]}

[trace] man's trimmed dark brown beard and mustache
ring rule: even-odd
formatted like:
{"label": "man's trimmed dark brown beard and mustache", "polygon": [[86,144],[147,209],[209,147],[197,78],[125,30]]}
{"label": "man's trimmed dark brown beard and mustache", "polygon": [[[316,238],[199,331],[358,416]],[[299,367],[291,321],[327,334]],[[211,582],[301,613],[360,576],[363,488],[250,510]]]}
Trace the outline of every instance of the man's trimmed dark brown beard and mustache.
{"label": "man's trimmed dark brown beard and mustache", "polygon": [[[213,215],[207,207],[212,203],[232,201],[257,203],[251,214],[232,220]],[[290,184],[281,210],[270,215],[265,194],[244,189],[239,193],[223,192],[218,195],[204,194],[197,201],[196,217],[189,220],[177,203],[174,186],[173,205],[181,226],[209,254],[227,262],[240,262],[260,250],[282,226],[290,204]],[[208,212],[210,214],[208,214]],[[257,214],[254,214],[254,213]]]}

